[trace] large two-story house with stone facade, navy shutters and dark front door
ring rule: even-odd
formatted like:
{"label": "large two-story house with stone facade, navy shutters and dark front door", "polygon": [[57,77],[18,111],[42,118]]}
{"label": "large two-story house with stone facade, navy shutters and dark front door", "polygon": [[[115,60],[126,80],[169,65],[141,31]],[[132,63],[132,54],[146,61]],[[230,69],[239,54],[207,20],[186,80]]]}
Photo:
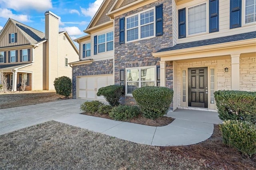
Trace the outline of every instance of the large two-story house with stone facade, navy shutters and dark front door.
{"label": "large two-story house with stone facade, navy shutters and dark front door", "polygon": [[84,32],[74,98],[97,99],[98,79],[124,85],[125,103],[136,88],[169,87],[173,110],[216,110],[216,90],[256,91],[256,0],[104,0]]}

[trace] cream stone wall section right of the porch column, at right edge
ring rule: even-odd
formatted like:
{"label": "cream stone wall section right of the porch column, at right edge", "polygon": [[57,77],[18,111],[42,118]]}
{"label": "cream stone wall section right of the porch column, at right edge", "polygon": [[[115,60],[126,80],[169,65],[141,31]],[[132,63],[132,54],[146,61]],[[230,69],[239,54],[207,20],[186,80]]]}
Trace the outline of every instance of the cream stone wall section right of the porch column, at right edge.
{"label": "cream stone wall section right of the porch column, at right edge", "polygon": [[240,57],[240,90],[256,91],[256,57]]}

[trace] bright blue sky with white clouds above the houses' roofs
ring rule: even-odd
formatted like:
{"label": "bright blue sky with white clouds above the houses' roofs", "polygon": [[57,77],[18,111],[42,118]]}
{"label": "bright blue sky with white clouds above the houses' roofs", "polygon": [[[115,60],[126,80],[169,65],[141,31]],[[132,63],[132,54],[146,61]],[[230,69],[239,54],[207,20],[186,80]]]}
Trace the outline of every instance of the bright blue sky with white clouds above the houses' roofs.
{"label": "bright blue sky with white clouds above the houses' roofs", "polygon": [[[60,17],[59,30],[74,40],[87,28],[103,0],[0,0],[0,30],[8,18],[44,32],[44,12]],[[76,43],[77,45],[77,43]]]}

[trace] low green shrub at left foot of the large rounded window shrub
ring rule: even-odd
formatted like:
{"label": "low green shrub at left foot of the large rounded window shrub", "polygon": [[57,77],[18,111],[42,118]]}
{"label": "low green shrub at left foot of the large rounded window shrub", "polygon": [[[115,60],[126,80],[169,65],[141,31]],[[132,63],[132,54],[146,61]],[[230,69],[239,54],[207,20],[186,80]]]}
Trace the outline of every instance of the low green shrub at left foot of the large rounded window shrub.
{"label": "low green shrub at left foot of the large rounded window shrub", "polygon": [[116,121],[127,121],[140,114],[140,109],[137,106],[120,105],[114,107],[109,113],[109,116]]}

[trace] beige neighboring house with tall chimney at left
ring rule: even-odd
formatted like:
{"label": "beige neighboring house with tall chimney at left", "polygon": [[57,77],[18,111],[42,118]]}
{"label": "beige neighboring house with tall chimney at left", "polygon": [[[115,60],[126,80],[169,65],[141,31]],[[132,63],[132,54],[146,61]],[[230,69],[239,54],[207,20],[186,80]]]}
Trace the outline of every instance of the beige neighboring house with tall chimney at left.
{"label": "beige neighboring house with tall chimney at left", "polygon": [[59,32],[59,18],[45,12],[45,34],[10,19],[0,33],[0,72],[7,75],[9,88],[18,90],[22,78],[26,90],[52,90],[56,77],[72,77],[69,62],[78,49],[67,32]]}

